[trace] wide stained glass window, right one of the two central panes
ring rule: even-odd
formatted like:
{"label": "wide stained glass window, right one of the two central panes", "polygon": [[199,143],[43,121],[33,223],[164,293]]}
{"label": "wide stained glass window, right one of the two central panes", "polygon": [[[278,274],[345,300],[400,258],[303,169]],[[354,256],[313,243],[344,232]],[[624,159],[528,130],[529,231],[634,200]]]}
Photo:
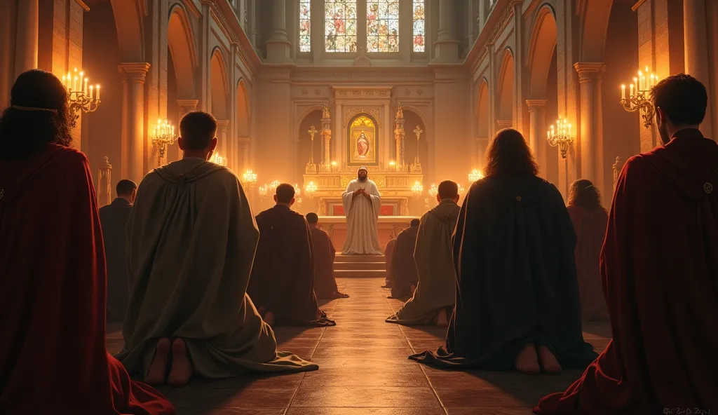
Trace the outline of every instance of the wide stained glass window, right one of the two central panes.
{"label": "wide stained glass window, right one of the two central panes", "polygon": [[367,0],[367,52],[398,52],[399,0]]}

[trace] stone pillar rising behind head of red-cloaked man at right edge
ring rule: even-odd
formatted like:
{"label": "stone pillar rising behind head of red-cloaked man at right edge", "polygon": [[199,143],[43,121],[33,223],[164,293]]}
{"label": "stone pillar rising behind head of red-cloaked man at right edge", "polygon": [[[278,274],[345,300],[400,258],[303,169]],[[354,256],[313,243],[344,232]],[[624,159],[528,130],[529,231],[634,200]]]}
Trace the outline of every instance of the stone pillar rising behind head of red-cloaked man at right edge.
{"label": "stone pillar rising behind head of red-cloaked man at right edge", "polygon": [[[707,0],[715,1],[715,0]],[[708,31],[706,26],[706,0],[684,0],[684,54],[686,57],[686,73],[701,81],[710,90],[710,72],[708,65]],[[716,70],[718,68],[714,68]],[[704,136],[714,138],[711,101],[709,93],[706,118],[701,124]]]}

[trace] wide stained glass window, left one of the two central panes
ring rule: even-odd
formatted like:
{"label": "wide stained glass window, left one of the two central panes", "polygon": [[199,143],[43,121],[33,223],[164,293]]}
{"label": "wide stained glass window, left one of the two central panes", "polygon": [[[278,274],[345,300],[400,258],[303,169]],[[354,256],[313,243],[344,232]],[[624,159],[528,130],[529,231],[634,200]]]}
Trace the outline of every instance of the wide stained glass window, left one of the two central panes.
{"label": "wide stained glass window, left one of the two central panes", "polygon": [[325,0],[325,48],[327,52],[357,50],[357,0]]}

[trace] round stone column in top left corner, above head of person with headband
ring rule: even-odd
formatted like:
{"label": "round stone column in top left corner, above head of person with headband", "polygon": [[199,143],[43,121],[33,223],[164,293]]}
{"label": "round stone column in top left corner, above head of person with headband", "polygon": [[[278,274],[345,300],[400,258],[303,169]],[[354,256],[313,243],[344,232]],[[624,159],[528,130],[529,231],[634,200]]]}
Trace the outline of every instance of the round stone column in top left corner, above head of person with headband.
{"label": "round stone column in top left corner, above head of person with headband", "polygon": [[26,70],[37,68],[38,18],[38,0],[17,1],[15,78]]}

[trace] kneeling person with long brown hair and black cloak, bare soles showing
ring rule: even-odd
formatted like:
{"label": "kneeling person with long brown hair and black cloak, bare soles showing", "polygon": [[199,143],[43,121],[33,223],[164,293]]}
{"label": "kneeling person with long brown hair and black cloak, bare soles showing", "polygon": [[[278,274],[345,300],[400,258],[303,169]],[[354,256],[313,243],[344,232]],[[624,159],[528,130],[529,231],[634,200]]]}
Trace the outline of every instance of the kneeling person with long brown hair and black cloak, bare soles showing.
{"label": "kneeling person with long brown hair and black cloak, bare soles showing", "polygon": [[581,331],[571,218],[556,187],[537,173],[521,133],[499,131],[486,177],[471,186],[454,231],[457,299],[446,342],[411,359],[558,373],[597,357]]}

